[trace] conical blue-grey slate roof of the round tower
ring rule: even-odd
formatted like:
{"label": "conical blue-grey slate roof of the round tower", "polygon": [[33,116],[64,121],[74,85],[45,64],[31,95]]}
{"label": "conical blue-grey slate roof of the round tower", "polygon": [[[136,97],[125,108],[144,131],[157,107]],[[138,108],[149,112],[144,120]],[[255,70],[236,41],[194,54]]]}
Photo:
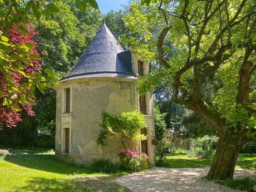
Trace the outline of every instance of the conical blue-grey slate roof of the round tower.
{"label": "conical blue-grey slate roof of the round tower", "polygon": [[105,22],[80,60],[61,81],[86,77],[132,77],[131,53],[125,51]]}

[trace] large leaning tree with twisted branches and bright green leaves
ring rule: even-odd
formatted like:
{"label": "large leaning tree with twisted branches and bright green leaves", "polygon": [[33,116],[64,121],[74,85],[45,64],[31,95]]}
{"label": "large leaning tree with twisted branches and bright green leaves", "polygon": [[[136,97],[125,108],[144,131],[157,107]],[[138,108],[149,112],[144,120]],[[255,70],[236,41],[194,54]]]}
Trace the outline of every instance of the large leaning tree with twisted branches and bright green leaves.
{"label": "large leaning tree with twisted branches and bright green leaves", "polygon": [[[255,1],[150,2],[133,3],[125,18],[140,37],[131,38],[131,47],[141,44],[142,55],[155,48],[160,63],[139,89],[168,86],[172,101],[213,126],[219,140],[208,178],[232,178],[241,147],[256,135]],[[157,41],[150,31],[154,27],[159,28]],[[218,88],[205,97],[204,83],[212,76]]]}

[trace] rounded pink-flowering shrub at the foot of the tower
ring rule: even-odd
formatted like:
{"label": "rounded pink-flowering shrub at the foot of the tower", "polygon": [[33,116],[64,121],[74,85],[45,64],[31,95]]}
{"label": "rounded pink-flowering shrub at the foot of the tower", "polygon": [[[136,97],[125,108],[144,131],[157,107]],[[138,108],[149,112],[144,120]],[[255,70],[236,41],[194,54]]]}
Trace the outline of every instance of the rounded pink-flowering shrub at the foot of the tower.
{"label": "rounded pink-flowering shrub at the foot of the tower", "polygon": [[126,171],[135,172],[145,170],[149,162],[149,156],[144,152],[139,154],[134,149],[122,149],[119,156],[122,167]]}

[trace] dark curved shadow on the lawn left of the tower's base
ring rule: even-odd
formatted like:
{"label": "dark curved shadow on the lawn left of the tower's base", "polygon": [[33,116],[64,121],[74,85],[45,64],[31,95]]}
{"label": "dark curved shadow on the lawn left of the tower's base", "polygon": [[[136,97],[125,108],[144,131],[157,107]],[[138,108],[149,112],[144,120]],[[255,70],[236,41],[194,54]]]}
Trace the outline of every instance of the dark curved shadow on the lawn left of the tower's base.
{"label": "dark curved shadow on the lawn left of the tower's base", "polygon": [[92,174],[91,169],[82,168],[58,160],[53,154],[47,154],[43,150],[11,150],[4,157],[5,161],[30,169],[37,169],[58,174]]}

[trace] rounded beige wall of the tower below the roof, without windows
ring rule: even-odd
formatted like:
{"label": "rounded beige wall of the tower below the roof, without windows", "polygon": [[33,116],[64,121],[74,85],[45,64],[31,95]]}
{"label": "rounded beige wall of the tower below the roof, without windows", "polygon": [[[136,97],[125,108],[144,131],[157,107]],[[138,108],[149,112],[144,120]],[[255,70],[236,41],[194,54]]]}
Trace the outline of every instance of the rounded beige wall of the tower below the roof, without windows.
{"label": "rounded beige wall of the tower below the roof, without windows", "polygon": [[[64,88],[71,88],[71,112],[63,113]],[[109,137],[106,146],[98,146],[102,112],[120,115],[136,109],[134,80],[122,78],[90,78],[62,82],[56,86],[56,155],[66,161],[88,166],[93,159],[119,161],[119,151],[124,148],[120,136]],[[63,153],[63,128],[70,128],[70,155]],[[62,144],[62,145],[61,145]],[[139,142],[127,141],[127,147],[140,150]]]}

